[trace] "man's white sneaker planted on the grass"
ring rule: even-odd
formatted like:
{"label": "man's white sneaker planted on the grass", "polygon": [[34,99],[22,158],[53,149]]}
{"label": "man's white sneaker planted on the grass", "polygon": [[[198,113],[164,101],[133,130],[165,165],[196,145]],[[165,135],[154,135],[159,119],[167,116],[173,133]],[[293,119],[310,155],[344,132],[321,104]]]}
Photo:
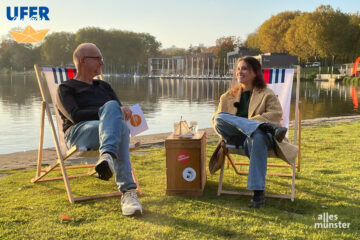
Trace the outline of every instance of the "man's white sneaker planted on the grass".
{"label": "man's white sneaker planted on the grass", "polygon": [[124,216],[142,214],[142,206],[137,198],[135,189],[130,189],[121,196],[121,210]]}

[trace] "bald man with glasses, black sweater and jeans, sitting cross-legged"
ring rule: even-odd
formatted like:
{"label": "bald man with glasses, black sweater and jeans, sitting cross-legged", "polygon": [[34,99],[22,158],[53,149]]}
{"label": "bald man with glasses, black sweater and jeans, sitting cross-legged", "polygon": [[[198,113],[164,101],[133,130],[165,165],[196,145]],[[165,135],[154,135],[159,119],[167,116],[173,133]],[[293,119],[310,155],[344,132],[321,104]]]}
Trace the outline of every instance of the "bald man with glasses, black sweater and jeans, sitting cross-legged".
{"label": "bald man with glasses, black sweater and jeans, sitting cross-legged", "polygon": [[73,61],[76,75],[59,86],[57,96],[66,144],[99,149],[95,170],[102,180],[108,180],[115,173],[123,193],[123,215],[142,214],[131,174],[129,129],[125,123],[132,112],[121,105],[108,83],[93,79],[101,74],[104,65],[96,45],[80,44],[74,51]]}

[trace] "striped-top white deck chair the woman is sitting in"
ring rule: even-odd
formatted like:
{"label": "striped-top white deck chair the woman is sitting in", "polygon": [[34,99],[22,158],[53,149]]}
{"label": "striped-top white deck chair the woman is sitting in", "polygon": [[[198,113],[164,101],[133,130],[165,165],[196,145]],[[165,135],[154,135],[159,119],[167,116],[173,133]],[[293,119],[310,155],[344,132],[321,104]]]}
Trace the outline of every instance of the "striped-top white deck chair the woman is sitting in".
{"label": "striped-top white deck chair the woman is sitting in", "polygon": [[[291,101],[291,91],[292,91],[292,83],[294,76],[294,69],[263,69],[264,80],[267,82],[268,88],[272,89],[274,93],[278,96],[280,104],[283,108],[283,118],[281,124],[285,127],[289,127],[289,115],[290,115],[290,101]],[[295,102],[295,124],[294,124],[294,141],[293,144],[298,145],[299,152],[297,156],[297,163],[293,165],[290,164],[277,164],[277,163],[269,163],[267,164],[268,168],[276,167],[276,168],[289,168],[291,172],[287,173],[279,173],[279,172],[271,172],[267,173],[267,175],[275,175],[280,177],[291,177],[291,188],[290,194],[269,194],[265,193],[265,197],[274,197],[274,198],[286,198],[294,201],[295,198],[295,169],[300,171],[300,158],[301,158],[301,102],[299,101],[299,93],[300,93],[300,66],[298,66],[297,70],[297,82],[296,82],[296,102]],[[249,162],[235,162],[230,154],[238,154],[245,155],[245,151],[241,146],[235,146],[231,144],[227,144],[224,140],[221,140],[220,146],[224,151],[224,154],[227,159],[227,165],[229,165],[235,170],[235,173],[238,175],[247,175],[247,171],[240,171],[238,166],[248,166]],[[268,157],[277,158],[276,153],[273,150],[268,152]],[[224,165],[225,161],[221,165],[219,183],[218,183],[218,191],[217,195],[221,194],[235,194],[235,195],[248,195],[251,196],[252,192],[250,191],[229,191],[223,189],[223,180],[224,180]]]}

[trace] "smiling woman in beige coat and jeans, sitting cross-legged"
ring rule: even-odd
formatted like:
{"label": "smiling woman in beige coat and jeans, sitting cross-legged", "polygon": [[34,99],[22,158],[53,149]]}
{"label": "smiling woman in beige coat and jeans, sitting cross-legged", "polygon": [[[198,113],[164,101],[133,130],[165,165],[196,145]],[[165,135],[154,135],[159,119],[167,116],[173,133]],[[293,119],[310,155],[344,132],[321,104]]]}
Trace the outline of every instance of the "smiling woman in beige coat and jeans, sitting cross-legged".
{"label": "smiling woman in beige coat and jeans, sitting cross-legged", "polygon": [[238,59],[232,87],[220,97],[212,124],[227,144],[244,148],[250,159],[247,189],[253,190],[254,195],[249,207],[265,204],[268,150],[274,149],[290,164],[295,162],[297,147],[285,138],[287,128],[280,126],[281,117],[280,102],[266,87],[259,61],[253,57]]}

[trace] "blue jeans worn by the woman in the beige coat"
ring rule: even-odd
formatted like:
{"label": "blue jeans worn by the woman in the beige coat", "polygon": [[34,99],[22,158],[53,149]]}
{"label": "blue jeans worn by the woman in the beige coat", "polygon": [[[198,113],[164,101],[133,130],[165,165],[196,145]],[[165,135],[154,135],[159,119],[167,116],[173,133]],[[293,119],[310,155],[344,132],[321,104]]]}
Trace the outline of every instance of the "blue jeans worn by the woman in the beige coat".
{"label": "blue jeans worn by the woman in the beige coat", "polygon": [[250,159],[246,188],[265,190],[268,150],[274,146],[271,134],[268,135],[258,128],[261,122],[230,113],[218,113],[214,120],[216,131],[226,142],[244,148]]}

